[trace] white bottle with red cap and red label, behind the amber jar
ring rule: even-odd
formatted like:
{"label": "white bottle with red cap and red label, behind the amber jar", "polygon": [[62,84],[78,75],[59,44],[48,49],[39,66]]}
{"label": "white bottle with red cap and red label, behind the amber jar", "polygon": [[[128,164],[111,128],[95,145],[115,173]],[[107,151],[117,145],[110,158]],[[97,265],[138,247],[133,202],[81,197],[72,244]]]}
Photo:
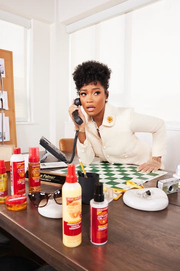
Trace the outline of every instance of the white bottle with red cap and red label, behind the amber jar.
{"label": "white bottle with red cap and red label, behind the amber jar", "polygon": [[10,188],[11,195],[25,195],[24,157],[20,148],[14,148],[10,158]]}

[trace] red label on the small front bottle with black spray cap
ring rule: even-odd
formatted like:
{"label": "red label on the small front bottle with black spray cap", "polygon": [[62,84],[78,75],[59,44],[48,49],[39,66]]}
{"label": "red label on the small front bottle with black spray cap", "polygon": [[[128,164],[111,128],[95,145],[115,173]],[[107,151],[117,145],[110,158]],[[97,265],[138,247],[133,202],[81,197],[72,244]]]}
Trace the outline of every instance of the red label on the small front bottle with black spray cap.
{"label": "red label on the small front bottle with black spray cap", "polygon": [[92,243],[101,244],[107,241],[108,206],[91,208],[90,239]]}

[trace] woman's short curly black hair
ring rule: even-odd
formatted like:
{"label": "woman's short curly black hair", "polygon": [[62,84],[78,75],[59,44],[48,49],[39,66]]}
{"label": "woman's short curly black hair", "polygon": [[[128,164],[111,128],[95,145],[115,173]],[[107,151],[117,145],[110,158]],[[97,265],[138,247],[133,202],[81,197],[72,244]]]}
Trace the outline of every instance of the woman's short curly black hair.
{"label": "woman's short curly black hair", "polygon": [[79,64],[72,73],[77,92],[89,83],[97,84],[97,81],[107,90],[109,87],[111,69],[98,61],[85,61]]}

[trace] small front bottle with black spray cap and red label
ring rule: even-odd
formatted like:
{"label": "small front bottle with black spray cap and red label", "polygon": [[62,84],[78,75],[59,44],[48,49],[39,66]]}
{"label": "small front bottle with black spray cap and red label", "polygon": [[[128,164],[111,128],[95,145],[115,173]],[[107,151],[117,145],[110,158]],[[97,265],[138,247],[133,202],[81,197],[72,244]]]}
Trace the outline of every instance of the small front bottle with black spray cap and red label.
{"label": "small front bottle with black spray cap and red label", "polygon": [[103,183],[95,183],[94,198],[90,200],[90,241],[95,245],[107,242],[108,201],[104,199]]}

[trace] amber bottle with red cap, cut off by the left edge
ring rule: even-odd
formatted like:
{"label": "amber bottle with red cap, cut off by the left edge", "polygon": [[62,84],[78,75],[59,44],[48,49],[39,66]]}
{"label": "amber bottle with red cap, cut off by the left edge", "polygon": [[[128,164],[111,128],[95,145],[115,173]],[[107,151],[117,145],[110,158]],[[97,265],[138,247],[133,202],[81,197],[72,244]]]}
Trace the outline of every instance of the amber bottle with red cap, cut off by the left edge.
{"label": "amber bottle with red cap, cut off by the left edge", "polygon": [[7,173],[5,170],[4,160],[0,160],[0,204],[5,203],[7,198],[8,187],[7,187]]}

